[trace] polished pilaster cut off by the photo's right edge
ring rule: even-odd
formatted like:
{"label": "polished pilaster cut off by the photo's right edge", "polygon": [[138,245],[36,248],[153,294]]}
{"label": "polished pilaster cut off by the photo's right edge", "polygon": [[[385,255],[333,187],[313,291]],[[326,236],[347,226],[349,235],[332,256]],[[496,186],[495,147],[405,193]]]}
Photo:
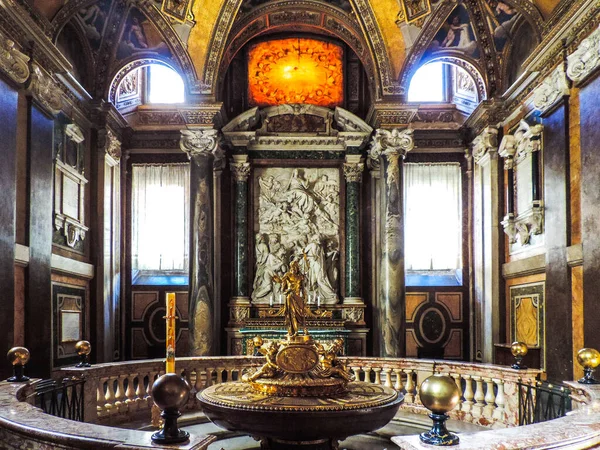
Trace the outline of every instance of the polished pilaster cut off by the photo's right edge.
{"label": "polished pilaster cut off by the photo's right edge", "polygon": [[[583,340],[600,348],[600,78],[579,91],[581,112],[581,238],[583,242]],[[565,322],[567,323],[567,322]]]}

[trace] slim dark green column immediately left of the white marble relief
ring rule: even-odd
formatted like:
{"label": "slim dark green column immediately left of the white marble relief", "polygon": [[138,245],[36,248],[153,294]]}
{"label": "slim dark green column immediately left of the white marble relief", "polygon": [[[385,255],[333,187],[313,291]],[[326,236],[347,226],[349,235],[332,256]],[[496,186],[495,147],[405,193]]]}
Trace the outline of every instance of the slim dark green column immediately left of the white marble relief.
{"label": "slim dark green column immediately left of the white marble relief", "polygon": [[235,177],[234,295],[248,299],[248,155],[236,155],[229,164]]}

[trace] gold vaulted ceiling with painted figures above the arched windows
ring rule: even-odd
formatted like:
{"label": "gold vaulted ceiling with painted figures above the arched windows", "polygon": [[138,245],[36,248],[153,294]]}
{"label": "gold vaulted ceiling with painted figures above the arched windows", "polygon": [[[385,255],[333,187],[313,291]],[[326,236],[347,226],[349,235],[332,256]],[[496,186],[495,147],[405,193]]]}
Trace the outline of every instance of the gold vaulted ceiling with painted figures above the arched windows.
{"label": "gold vaulted ceiling with painted figures above the arched windows", "polygon": [[[518,75],[559,0],[21,0],[67,53],[74,75],[106,97],[123,67],[158,59],[190,92],[218,96],[237,51],[257,37],[310,34],[345,42],[373,97],[404,94],[426,61],[480,74],[488,97]],[[523,45],[522,36],[529,45]],[[79,42],[73,42],[79,40]],[[517,42],[519,41],[519,42]],[[517,55],[518,53],[518,55]],[[512,73],[511,73],[512,70]]]}

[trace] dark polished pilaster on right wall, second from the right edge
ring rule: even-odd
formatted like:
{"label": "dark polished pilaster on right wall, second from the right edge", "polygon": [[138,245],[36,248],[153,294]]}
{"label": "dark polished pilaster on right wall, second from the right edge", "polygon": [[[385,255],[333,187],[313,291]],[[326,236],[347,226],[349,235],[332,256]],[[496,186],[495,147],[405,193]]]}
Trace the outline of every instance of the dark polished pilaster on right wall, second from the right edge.
{"label": "dark polished pilaster on right wall, second from the right edge", "polygon": [[568,106],[544,117],[546,205],[546,371],[554,380],[573,378],[571,276],[567,266],[569,223]]}

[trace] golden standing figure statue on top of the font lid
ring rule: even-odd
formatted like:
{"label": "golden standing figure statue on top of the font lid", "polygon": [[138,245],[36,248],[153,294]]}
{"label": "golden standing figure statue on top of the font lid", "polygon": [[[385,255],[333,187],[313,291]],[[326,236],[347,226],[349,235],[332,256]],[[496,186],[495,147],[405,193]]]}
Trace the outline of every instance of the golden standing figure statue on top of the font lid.
{"label": "golden standing figure statue on top of the font lid", "polygon": [[273,281],[281,284],[285,295],[285,324],[289,336],[297,336],[300,326],[306,331],[304,305],[304,275],[300,272],[298,261],[290,263],[290,270],[282,277],[275,275]]}

